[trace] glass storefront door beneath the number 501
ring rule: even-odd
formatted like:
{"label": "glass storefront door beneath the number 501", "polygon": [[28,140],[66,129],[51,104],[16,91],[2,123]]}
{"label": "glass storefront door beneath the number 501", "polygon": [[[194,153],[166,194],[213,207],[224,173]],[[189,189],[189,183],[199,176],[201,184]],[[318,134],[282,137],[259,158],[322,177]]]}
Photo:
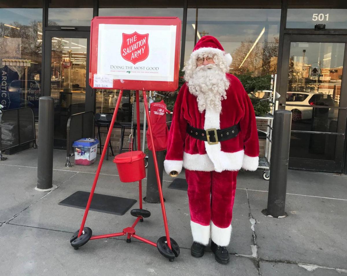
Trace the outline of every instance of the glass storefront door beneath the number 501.
{"label": "glass storefront door beneath the number 501", "polygon": [[291,168],[342,171],[346,42],[345,36],[285,36],[280,94],[283,106],[292,112]]}

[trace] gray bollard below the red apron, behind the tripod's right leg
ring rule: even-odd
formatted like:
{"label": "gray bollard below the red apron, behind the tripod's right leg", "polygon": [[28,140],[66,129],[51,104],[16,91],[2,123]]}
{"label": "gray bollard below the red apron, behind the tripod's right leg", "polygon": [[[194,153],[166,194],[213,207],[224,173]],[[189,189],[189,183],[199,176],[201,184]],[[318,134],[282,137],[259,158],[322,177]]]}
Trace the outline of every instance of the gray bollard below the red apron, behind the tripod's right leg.
{"label": "gray bollard below the red apron, behind the tripod's right leg", "polygon": [[[163,169],[164,169],[164,151],[155,152],[156,159],[158,160],[160,183],[163,186]],[[158,184],[156,182],[156,175],[154,169],[153,153],[148,152],[148,170],[147,170],[147,189],[146,196],[143,199],[147,203],[160,203]]]}

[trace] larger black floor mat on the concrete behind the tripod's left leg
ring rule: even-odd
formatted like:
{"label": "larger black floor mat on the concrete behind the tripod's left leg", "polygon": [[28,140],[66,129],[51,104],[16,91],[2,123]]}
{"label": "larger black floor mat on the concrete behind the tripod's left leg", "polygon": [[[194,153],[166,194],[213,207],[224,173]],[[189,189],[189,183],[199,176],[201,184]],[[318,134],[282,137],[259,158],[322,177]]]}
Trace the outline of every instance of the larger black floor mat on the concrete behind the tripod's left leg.
{"label": "larger black floor mat on the concrete behind the tripod's left leg", "polygon": [[[89,192],[77,191],[66,199],[60,201],[59,205],[85,209],[87,206]],[[94,193],[90,210],[108,214],[124,215],[137,200],[129,198],[120,198],[105,194]]]}

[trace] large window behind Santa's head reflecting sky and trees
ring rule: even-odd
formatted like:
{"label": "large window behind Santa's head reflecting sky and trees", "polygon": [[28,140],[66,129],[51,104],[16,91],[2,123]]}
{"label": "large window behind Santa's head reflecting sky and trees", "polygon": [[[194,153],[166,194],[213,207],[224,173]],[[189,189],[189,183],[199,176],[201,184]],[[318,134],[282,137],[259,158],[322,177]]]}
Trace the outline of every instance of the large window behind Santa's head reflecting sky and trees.
{"label": "large window behind Santa's head reflecting sky and trees", "polygon": [[212,35],[231,53],[230,73],[240,78],[247,92],[269,90],[270,76],[277,71],[280,13],[280,9],[188,9],[185,61],[195,41]]}

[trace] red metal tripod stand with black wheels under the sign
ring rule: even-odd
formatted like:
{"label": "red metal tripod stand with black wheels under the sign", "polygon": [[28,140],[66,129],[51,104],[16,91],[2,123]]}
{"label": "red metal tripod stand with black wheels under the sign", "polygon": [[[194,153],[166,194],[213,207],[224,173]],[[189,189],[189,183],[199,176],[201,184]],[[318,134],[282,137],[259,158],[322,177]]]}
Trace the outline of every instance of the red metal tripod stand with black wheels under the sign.
{"label": "red metal tripod stand with black wheels under the sign", "polygon": [[[118,97],[117,104],[116,104],[116,108],[115,108],[115,111],[113,112],[110,128],[109,128],[107,138],[105,141],[105,145],[108,145],[108,143],[110,141],[111,132],[113,129],[113,125],[115,124],[120,100],[122,98],[122,94],[123,94],[123,90],[120,90],[119,97]],[[149,110],[148,110],[148,104],[147,104],[147,95],[146,95],[146,91],[144,89],[143,89],[143,101],[144,101],[144,105],[145,105],[145,111],[146,111],[147,118],[150,118]],[[138,122],[137,123],[137,133],[138,133],[137,134],[137,144],[138,144],[138,147],[141,148],[141,138],[139,135],[140,134],[140,124],[139,124],[140,113],[139,113],[139,91],[138,90],[136,90],[136,110],[137,110],[136,111],[136,117],[137,117],[137,122]],[[144,131],[145,131],[145,129],[144,129]],[[86,244],[89,240],[96,240],[96,239],[103,239],[103,238],[110,238],[110,237],[117,237],[117,236],[127,236],[127,242],[130,242],[131,237],[133,237],[137,240],[140,240],[140,241],[143,241],[145,243],[148,243],[150,245],[155,246],[156,248],[158,248],[158,251],[164,257],[168,258],[170,261],[174,261],[175,257],[178,257],[179,246],[175,242],[175,240],[170,238],[170,235],[169,235],[169,228],[168,228],[168,223],[167,223],[167,218],[166,218],[165,205],[164,205],[163,193],[162,193],[162,189],[161,189],[160,176],[159,176],[159,168],[158,168],[158,163],[157,163],[155,149],[154,149],[154,142],[153,142],[153,136],[152,136],[152,126],[151,126],[150,120],[148,120],[148,131],[149,131],[150,139],[151,139],[151,142],[153,145],[152,152],[153,152],[153,159],[154,159],[154,166],[155,166],[155,174],[156,174],[156,180],[157,180],[157,184],[158,184],[160,205],[161,205],[166,235],[160,237],[158,239],[158,241],[156,243],[154,243],[150,240],[145,239],[144,237],[141,237],[141,236],[138,236],[135,234],[136,224],[139,221],[142,222],[143,218],[149,217],[151,214],[148,210],[142,209],[142,180],[138,181],[139,209],[133,209],[130,211],[130,214],[137,217],[132,226],[124,228],[123,231],[119,232],[119,233],[112,233],[112,234],[105,234],[105,235],[98,235],[98,236],[92,236],[92,230],[88,227],[84,227],[85,221],[87,219],[88,211],[90,208],[90,204],[91,204],[92,199],[93,199],[96,183],[98,182],[98,178],[99,178],[100,170],[101,170],[102,163],[104,160],[104,156],[105,156],[105,153],[107,151],[107,147],[104,147],[102,150],[100,161],[99,161],[98,170],[96,170],[96,174],[95,174],[93,186],[92,186],[92,189],[90,192],[90,196],[88,199],[88,203],[87,203],[86,209],[84,211],[84,216],[82,219],[81,227],[79,228],[79,230],[77,230],[74,233],[74,235],[70,239],[71,246],[73,246],[74,249],[78,249],[82,245]]]}

